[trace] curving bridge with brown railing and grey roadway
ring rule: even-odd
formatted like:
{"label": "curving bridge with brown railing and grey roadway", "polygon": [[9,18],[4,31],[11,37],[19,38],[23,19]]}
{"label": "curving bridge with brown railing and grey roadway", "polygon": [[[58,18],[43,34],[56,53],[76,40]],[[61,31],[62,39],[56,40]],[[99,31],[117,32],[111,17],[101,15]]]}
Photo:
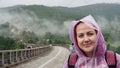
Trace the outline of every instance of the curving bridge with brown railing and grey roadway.
{"label": "curving bridge with brown railing and grey roadway", "polygon": [[0,68],[62,68],[68,55],[62,46],[1,50]]}

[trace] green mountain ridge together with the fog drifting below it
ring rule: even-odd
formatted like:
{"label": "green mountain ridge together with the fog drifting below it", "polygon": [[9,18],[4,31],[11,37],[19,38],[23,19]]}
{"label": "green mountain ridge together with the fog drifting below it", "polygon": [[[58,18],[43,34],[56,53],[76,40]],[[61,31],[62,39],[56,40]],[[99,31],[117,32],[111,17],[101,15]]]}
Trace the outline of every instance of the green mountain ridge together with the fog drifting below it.
{"label": "green mountain ridge together with the fog drifting below it", "polygon": [[[37,35],[44,35],[45,32],[67,34],[72,20],[78,20],[89,14],[95,17],[103,29],[120,32],[119,4],[93,4],[74,8],[17,5],[0,8],[0,24],[8,22],[15,29],[17,27],[19,30],[33,31]],[[115,26],[111,26],[113,24]]]}

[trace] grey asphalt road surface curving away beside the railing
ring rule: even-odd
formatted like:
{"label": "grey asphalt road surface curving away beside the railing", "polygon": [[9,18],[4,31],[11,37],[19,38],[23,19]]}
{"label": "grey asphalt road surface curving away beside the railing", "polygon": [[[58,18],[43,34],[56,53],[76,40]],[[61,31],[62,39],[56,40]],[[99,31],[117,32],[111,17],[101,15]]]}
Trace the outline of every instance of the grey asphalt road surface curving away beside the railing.
{"label": "grey asphalt road surface curving away beside the railing", "polygon": [[62,68],[68,55],[69,50],[66,48],[53,46],[53,50],[49,54],[22,63],[14,68]]}

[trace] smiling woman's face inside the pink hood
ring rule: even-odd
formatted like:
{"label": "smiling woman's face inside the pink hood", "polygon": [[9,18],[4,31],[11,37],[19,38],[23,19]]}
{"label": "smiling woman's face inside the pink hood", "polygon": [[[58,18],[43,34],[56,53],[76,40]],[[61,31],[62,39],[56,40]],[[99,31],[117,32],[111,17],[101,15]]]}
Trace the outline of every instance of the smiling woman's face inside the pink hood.
{"label": "smiling woman's face inside the pink hood", "polygon": [[96,42],[96,31],[85,23],[76,26],[78,46],[87,56],[92,56]]}

